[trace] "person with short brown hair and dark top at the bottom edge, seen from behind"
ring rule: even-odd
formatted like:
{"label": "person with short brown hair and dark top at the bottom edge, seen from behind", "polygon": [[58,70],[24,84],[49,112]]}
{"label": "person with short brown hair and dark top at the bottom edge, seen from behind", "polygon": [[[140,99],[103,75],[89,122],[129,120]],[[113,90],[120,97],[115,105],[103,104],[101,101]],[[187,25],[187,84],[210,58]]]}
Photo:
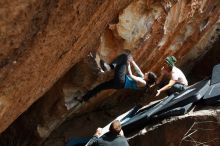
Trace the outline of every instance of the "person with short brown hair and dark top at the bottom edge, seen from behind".
{"label": "person with short brown hair and dark top at the bottom edge, seen from behind", "polygon": [[121,123],[115,120],[109,127],[109,132],[100,137],[102,129],[98,128],[87,146],[129,146],[127,139],[121,134]]}

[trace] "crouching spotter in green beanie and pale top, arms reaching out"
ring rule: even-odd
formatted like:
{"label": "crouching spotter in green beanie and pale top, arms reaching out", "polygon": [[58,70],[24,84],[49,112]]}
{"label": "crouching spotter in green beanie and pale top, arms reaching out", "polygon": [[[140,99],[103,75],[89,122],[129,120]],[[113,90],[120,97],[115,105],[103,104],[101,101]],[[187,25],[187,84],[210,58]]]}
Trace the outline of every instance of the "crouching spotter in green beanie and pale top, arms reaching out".
{"label": "crouching spotter in green beanie and pale top, arms reaching out", "polygon": [[175,66],[176,61],[174,56],[166,57],[164,66],[161,69],[161,76],[157,80],[157,85],[160,89],[157,90],[156,96],[159,96],[163,91],[166,91],[167,95],[175,92],[179,93],[188,86],[185,75]]}

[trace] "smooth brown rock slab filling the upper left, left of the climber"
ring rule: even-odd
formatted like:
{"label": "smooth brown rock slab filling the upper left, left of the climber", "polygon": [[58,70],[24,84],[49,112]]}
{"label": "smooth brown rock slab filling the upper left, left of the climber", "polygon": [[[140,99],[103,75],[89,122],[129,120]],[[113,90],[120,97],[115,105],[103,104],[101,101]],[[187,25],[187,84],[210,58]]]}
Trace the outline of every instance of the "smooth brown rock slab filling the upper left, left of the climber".
{"label": "smooth brown rock slab filling the upper left, left of the climber", "polygon": [[130,1],[1,1],[0,131],[87,53]]}

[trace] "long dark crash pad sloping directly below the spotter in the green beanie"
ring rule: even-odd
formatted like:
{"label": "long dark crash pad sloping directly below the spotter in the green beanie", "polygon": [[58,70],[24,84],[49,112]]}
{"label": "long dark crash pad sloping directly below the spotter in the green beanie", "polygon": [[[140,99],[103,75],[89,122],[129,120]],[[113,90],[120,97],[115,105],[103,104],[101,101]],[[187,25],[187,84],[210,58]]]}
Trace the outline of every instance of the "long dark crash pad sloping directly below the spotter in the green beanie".
{"label": "long dark crash pad sloping directly below the spotter in the green beanie", "polygon": [[[175,115],[178,115],[178,113],[180,115],[184,114],[185,111],[188,111],[189,105],[199,101],[205,95],[209,85],[210,80],[200,81],[190,86],[180,94],[172,94],[150,108],[141,109],[134,115],[134,117],[122,125],[124,132],[129,135],[129,133],[132,132],[132,129],[144,128],[150,120],[152,121],[154,119],[154,115],[160,115],[168,111],[172,111],[172,109],[181,109],[179,111],[182,112],[176,110]],[[187,107],[186,109],[184,109],[185,106]],[[163,116],[165,116],[165,114],[163,114]],[[167,116],[169,117],[170,113],[167,114]]]}

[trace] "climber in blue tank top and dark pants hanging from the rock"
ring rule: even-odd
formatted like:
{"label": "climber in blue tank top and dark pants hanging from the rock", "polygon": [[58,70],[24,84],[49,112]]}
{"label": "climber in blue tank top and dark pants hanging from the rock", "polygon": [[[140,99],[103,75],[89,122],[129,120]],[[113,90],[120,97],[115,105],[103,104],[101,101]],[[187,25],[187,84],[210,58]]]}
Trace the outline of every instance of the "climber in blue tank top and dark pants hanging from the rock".
{"label": "climber in blue tank top and dark pants hanging from the rock", "polygon": [[[138,76],[133,75],[131,65],[134,67]],[[104,71],[115,70],[114,78],[99,84],[92,90],[88,91],[82,97],[75,97],[75,100],[82,102],[89,100],[98,92],[106,89],[132,89],[146,90],[154,85],[157,76],[153,72],[143,74],[138,65],[133,60],[130,52],[119,55],[111,64],[101,61],[101,67]]]}

